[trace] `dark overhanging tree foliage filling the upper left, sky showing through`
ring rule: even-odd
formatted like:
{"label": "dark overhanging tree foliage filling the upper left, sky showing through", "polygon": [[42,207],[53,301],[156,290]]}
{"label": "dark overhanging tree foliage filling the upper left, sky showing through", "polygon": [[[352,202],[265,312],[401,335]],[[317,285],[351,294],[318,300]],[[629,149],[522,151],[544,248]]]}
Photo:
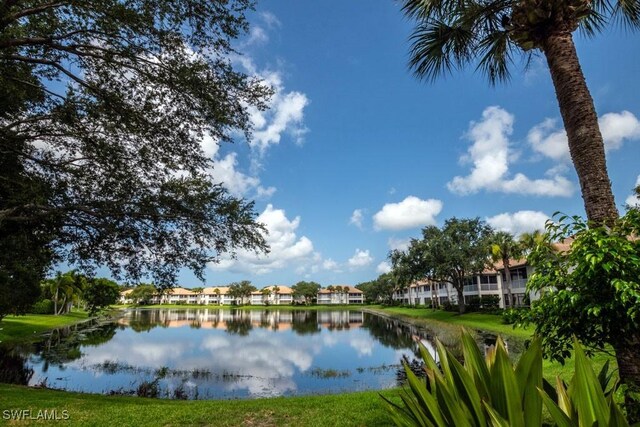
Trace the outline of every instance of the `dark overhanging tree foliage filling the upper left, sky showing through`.
{"label": "dark overhanging tree foliage filling the upper left, sky showing through", "polygon": [[[253,204],[213,181],[200,145],[250,137],[272,92],[229,59],[251,7],[2,5],[0,253],[35,278],[12,286],[33,288],[58,259],[169,286],[182,266],[202,276],[223,253],[266,250]],[[0,257],[0,276],[16,268]]]}

